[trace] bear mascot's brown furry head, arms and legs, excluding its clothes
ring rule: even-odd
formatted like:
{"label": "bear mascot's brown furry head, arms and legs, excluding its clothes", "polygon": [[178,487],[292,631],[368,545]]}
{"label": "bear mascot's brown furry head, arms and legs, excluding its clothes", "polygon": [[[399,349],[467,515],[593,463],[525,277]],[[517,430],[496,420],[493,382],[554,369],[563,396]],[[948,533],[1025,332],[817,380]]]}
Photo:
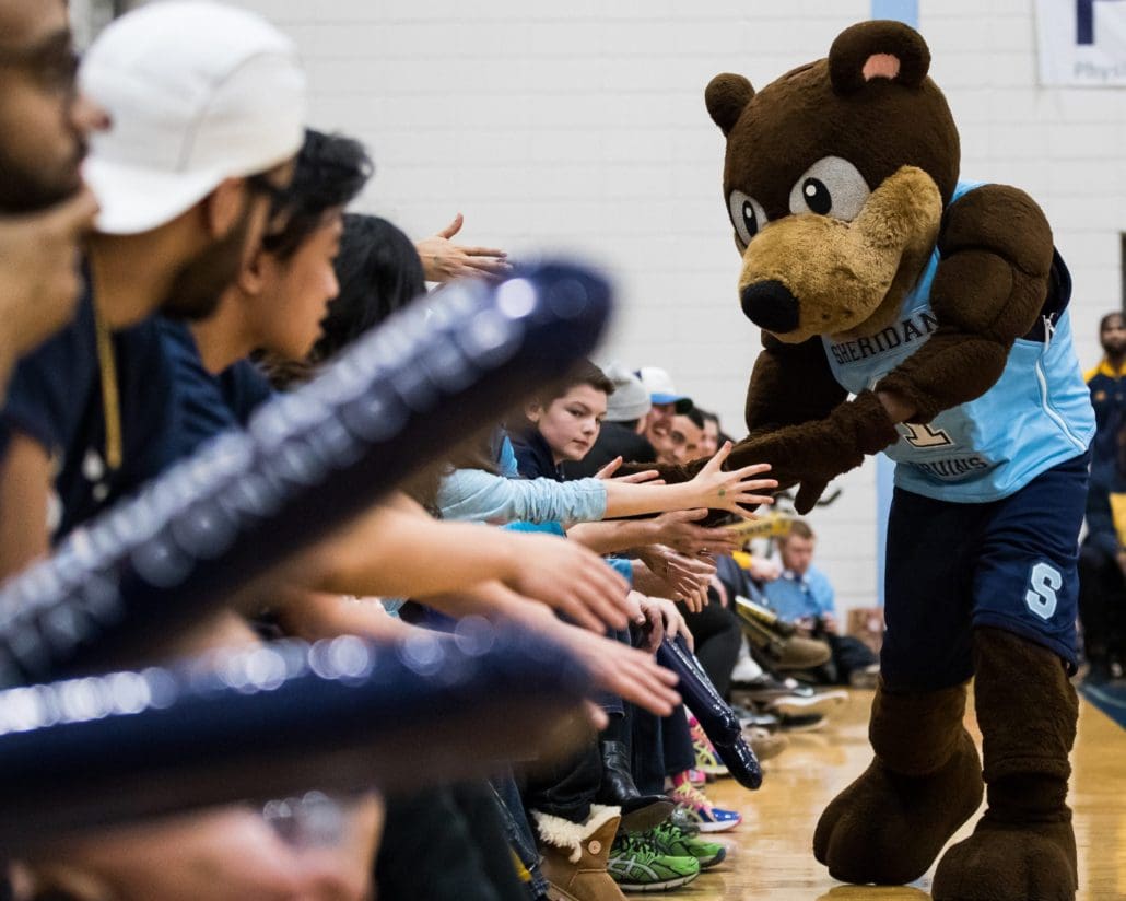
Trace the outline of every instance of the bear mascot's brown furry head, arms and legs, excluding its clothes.
{"label": "bear mascot's brown furry head, arms and legs, excluding its clothes", "polygon": [[[958,135],[929,64],[915,32],[864,23],[837,38],[829,59],[759,91],[731,74],[706,91],[727,137],[724,203],[743,257],[740,301],[763,327],[747,394],[750,435],[727,465],[770,463],[783,487],[801,487],[799,512],[838,474],[899,439],[873,391],[846,400],[822,337],[879,333],[937,250],[938,325],[877,389],[903,407],[901,417],[928,422],[992,387],[1053,289],[1052,232],[1027,195],[986,185],[951,204]],[[1071,899],[1075,846],[1064,802],[1074,692],[1053,653],[998,630],[975,633],[975,664],[989,810],[939,863],[935,898]],[[964,703],[963,687],[882,686],[875,759],[814,837],[834,876],[915,880],[976,810],[982,770]]]}

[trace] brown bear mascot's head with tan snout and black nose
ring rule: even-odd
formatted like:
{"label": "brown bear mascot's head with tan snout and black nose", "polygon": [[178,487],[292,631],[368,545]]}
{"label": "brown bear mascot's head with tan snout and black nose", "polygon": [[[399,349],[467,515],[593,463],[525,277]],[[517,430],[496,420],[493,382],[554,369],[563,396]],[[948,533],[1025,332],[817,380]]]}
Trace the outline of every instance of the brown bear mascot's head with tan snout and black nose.
{"label": "brown bear mascot's head with tan snout and black nose", "polygon": [[929,66],[917,32],[867,21],[760,91],[708,84],[743,311],[779,340],[878,332],[929,260],[959,158]]}

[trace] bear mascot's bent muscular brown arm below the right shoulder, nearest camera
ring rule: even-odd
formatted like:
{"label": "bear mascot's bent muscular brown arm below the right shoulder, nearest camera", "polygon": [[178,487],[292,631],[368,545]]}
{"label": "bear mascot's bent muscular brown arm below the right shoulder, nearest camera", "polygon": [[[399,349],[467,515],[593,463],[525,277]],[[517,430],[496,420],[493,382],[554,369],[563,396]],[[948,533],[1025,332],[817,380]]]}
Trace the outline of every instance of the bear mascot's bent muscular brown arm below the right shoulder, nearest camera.
{"label": "bear mascot's bent muscular brown arm below the right shoulder, nearest camera", "polygon": [[939,325],[878,387],[912,422],[993,386],[1013,341],[1036,323],[1052,280],[1047,220],[1028,195],[1004,185],[982,186],[950,206],[938,247],[931,304]]}

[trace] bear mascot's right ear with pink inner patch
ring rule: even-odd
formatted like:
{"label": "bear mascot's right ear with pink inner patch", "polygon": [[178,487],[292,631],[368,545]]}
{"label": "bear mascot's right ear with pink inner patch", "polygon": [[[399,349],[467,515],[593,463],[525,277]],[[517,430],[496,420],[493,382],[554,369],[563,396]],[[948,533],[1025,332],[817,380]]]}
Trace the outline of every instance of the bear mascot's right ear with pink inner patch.
{"label": "bear mascot's right ear with pink inner patch", "polygon": [[876,78],[918,88],[930,69],[930,50],[914,28],[899,21],[863,21],[841,32],[829,51],[829,78],[840,95]]}

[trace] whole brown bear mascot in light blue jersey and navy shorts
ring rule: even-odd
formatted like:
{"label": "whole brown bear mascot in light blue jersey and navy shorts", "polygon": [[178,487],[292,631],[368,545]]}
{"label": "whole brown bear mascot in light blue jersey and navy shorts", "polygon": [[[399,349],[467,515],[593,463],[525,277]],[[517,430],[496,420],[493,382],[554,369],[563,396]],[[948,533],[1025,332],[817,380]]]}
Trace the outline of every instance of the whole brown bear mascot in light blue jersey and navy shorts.
{"label": "whole brown bear mascot in light blue jersey and navy shorts", "polygon": [[[817,859],[848,882],[915,880],[988,786],[935,898],[1070,899],[1093,416],[1044,214],[958,179],[929,64],[915,32],[872,21],[760,91],[733,74],[707,88],[740,300],[763,330],[731,465],[772,464],[805,511],[866,456],[897,463],[875,759],[823,813]],[[971,676],[983,761],[963,726]]]}

